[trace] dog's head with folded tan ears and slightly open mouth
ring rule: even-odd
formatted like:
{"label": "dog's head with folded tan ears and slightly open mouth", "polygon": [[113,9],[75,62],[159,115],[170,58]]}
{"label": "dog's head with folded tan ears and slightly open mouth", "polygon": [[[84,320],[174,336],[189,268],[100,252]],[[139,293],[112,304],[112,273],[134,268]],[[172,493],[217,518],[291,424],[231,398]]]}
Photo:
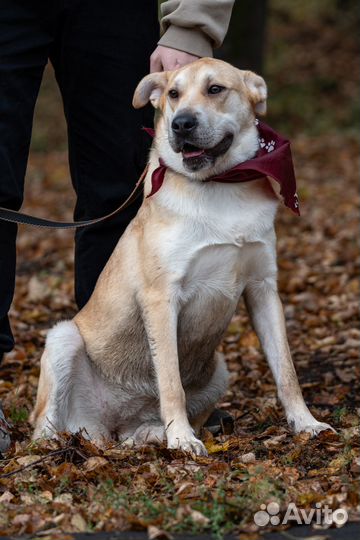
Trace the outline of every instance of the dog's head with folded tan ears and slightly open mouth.
{"label": "dog's head with folded tan ears and slightly open mouth", "polygon": [[159,109],[156,146],[181,174],[203,179],[250,159],[258,149],[255,114],[266,112],[266,84],[251,71],[204,58],[176,71],[152,73],[133,105]]}

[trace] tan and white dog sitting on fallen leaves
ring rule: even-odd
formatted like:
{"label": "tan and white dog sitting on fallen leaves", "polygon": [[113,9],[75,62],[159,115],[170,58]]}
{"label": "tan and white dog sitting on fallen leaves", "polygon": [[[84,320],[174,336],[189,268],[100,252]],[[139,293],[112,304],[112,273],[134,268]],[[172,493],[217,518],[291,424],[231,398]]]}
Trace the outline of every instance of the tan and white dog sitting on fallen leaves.
{"label": "tan and white dog sitting on fallen leaves", "polygon": [[145,195],[162,157],[162,188],[144,198],[87,305],[48,334],[34,437],[84,428],[142,444],[205,454],[196,437],[224,394],[216,352],[244,294],[295,432],[331,429],[305,405],[277,292],[274,218],[265,179],[202,182],[252,158],[264,80],[202,59],[145,77],[134,106],[160,111]]}

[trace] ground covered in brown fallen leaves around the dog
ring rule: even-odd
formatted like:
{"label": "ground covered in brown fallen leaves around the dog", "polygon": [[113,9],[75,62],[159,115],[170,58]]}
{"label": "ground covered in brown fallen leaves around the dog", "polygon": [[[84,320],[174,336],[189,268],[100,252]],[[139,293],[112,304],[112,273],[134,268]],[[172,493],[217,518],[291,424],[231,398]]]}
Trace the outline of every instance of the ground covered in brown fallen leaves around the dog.
{"label": "ground covered in brown fallen leaves around the dog", "polygon": [[[286,3],[276,4],[286,11]],[[318,4],[311,5],[315,9]],[[280,22],[288,40],[290,34]],[[304,26],[301,32],[306,36]],[[326,51],[326,40],[334,45],[336,39],[330,31],[323,35]],[[343,41],[339,36],[338,43],[344,53],[352,42],[346,35]],[[344,53],[342,62],[335,47],[331,53],[335,72],[352,58]],[[325,69],[321,56],[310,56],[294,56],[292,68],[298,77],[299,63],[304,67],[310,62],[304,73],[317,62]],[[274,87],[287,86],[284,77],[289,71],[271,69]],[[330,77],[329,66],[325,71]],[[345,97],[346,89],[351,94],[350,76],[342,89]],[[331,107],[336,110],[336,123],[340,111],[336,96],[330,97],[327,94],[326,106],[330,103],[328,114]],[[74,199],[67,158],[54,150],[63,146],[57,131],[61,110],[53,114],[52,101],[46,99],[45,94],[24,210],[71,219]],[[301,96],[294,99],[300,103]],[[275,105],[279,106],[276,100]],[[73,242],[68,231],[21,227],[11,311],[17,346],[0,371],[0,399],[15,441],[0,461],[0,535],[153,527],[154,535],[156,528],[207,531],[215,538],[235,531],[254,540],[260,531],[253,515],[271,501],[277,501],[282,512],[290,501],[305,509],[321,503],[344,507],[350,519],[360,519],[359,144],[351,130],[326,131],[293,138],[302,217],[280,208],[279,289],[305,399],[314,415],[335,427],[337,434],[309,439],[290,433],[257,337],[240,305],[221,345],[231,371],[221,407],[234,415],[235,432],[215,439],[204,432],[209,457],[184,456],[165,447],[129,450],[109,444],[99,449],[81,435],[30,442],[27,420],[47,329],[75,313]]]}

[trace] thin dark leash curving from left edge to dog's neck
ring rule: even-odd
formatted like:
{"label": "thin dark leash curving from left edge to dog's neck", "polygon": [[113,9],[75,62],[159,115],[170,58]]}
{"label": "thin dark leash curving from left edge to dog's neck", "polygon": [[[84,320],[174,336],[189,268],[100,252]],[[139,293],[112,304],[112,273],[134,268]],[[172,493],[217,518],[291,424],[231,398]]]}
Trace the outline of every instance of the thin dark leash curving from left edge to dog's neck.
{"label": "thin dark leash curving from left edge to dog's neck", "polygon": [[16,210],[10,210],[9,208],[0,207],[0,219],[3,221],[9,221],[10,223],[18,223],[21,225],[33,225],[35,227],[46,227],[50,229],[79,229],[80,227],[88,227],[89,225],[95,225],[95,223],[100,223],[107,219],[116,216],[125,208],[130,206],[135,199],[138,198],[140,193],[142,193],[142,184],[144,182],[148,166],[145,167],[139,180],[136,182],[136,185],[128,198],[122,205],[120,205],[116,210],[110,212],[106,216],[100,218],[88,219],[86,221],[52,221],[51,219],[38,218],[35,216],[29,216],[28,214],[23,214],[22,212],[17,212]]}

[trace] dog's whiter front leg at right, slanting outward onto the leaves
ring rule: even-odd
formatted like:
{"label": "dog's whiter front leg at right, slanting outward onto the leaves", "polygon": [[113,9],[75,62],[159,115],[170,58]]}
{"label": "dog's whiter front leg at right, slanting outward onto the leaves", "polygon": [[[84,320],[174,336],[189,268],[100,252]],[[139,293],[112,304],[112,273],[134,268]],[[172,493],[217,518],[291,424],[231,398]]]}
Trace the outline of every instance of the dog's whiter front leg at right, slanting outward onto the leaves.
{"label": "dog's whiter front leg at right, slanting outward onto the leaves", "polygon": [[318,422],[305,404],[290,354],[275,280],[249,283],[245,302],[273,373],[288,424],[296,433],[307,431],[312,435],[332,429],[328,424]]}

